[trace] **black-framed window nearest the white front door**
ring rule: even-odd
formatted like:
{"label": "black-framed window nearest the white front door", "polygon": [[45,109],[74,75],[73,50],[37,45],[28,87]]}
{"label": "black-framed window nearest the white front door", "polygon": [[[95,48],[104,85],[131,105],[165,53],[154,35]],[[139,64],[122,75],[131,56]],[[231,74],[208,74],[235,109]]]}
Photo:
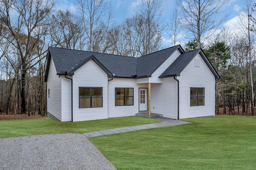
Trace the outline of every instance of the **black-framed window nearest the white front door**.
{"label": "black-framed window nearest the white front door", "polygon": [[115,106],[133,105],[133,88],[115,88]]}

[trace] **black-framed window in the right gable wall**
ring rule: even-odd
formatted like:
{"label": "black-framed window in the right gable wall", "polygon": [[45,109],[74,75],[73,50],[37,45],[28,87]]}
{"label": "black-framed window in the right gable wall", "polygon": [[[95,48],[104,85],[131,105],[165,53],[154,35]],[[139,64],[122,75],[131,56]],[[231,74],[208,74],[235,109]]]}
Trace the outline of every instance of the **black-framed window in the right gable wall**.
{"label": "black-framed window in the right gable wall", "polygon": [[190,88],[190,106],[204,106],[204,88]]}

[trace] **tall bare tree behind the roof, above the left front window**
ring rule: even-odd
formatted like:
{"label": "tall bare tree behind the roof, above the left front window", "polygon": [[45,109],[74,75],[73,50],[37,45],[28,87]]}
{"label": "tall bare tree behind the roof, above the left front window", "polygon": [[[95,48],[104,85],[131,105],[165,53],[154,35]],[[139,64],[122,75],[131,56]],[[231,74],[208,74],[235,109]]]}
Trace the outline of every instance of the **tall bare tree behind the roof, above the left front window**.
{"label": "tall bare tree behind the roof, above the left front window", "polygon": [[112,9],[105,0],[77,0],[77,8],[82,18],[87,50],[93,52],[102,52],[104,40],[110,19],[112,18]]}

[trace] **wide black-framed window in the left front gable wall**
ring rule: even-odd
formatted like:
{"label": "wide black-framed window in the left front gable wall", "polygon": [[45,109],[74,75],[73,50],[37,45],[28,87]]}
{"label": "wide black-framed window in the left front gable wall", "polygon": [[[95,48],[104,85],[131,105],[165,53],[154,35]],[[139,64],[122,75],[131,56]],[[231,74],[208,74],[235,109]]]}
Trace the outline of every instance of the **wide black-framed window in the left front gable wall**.
{"label": "wide black-framed window in the left front gable wall", "polygon": [[102,107],[102,87],[79,87],[79,108]]}

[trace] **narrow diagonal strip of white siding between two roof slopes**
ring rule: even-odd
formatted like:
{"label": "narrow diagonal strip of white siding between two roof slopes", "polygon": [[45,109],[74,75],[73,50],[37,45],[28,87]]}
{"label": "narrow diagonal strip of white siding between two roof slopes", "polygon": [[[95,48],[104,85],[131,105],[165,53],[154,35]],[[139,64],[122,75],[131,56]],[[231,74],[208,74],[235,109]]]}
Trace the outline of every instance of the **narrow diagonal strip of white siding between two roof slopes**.
{"label": "narrow diagonal strip of white siding between two roof slopes", "polygon": [[160,65],[156,69],[156,71],[153,72],[153,74],[149,78],[149,82],[162,83],[162,79],[158,77],[166,70],[166,68],[168,68],[172,64],[172,62],[174,62],[174,60],[177,59],[177,57],[179,57],[179,55],[180,51],[177,49],[176,51],[174,51],[174,53],[172,53],[172,55],[168,59],[166,59],[166,61],[164,61],[164,63],[162,63],[162,65]]}

